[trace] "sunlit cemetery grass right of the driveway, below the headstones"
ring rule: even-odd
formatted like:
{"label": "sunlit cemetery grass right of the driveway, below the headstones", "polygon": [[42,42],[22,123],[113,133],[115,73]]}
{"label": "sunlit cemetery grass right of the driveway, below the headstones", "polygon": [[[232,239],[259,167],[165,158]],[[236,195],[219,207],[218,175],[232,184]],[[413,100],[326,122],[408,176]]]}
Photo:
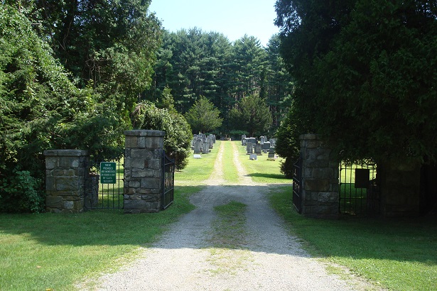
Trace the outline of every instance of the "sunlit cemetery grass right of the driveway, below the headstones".
{"label": "sunlit cemetery grass right of the driveway, below the headstones", "polygon": [[273,183],[273,184],[291,184],[291,180],[286,179],[281,173],[281,159],[268,160],[268,154],[258,155],[257,160],[249,160],[246,146],[242,146],[240,141],[233,141],[237,144],[239,152],[239,162],[242,163],[247,170],[249,177],[252,177],[254,182]]}

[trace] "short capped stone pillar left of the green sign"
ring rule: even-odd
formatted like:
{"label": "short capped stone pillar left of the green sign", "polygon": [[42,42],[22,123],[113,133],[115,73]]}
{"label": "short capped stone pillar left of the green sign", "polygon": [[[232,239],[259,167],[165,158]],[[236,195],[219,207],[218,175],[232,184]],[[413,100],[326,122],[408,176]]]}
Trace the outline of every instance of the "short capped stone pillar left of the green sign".
{"label": "short capped stone pillar left of the green sign", "polygon": [[45,150],[45,210],[83,212],[85,204],[86,150]]}

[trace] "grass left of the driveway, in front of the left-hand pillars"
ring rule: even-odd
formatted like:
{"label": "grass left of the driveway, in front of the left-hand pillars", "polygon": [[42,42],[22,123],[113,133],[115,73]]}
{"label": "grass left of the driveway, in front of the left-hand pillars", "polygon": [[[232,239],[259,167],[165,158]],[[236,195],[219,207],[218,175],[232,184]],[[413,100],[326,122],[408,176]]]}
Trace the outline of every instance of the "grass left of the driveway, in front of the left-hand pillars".
{"label": "grass left of the driveway, in front of the left-hand pillars", "polygon": [[1,214],[0,290],[72,290],[114,270],[190,212],[188,195],[199,190],[178,187],[173,205],[157,214]]}

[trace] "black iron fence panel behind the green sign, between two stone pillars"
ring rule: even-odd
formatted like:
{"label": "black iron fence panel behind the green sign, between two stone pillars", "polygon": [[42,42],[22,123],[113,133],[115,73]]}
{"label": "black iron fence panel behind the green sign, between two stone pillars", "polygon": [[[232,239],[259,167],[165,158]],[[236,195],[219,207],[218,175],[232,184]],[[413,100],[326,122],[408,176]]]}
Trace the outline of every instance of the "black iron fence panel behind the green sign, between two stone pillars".
{"label": "black iron fence panel behind the green sign, between two stone pillars", "polygon": [[115,183],[100,181],[100,163],[91,162],[85,171],[85,209],[124,208],[124,164],[115,162]]}

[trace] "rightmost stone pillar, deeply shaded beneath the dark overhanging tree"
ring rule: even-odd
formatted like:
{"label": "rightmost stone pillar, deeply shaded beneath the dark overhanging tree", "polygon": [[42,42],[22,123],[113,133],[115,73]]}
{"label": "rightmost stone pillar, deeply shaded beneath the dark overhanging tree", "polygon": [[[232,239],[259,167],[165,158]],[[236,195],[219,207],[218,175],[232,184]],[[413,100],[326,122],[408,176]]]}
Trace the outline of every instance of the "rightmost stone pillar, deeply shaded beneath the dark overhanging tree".
{"label": "rightmost stone pillar, deeply shaded beneath the dark overhanging tree", "polygon": [[378,163],[382,214],[386,217],[419,216],[421,161],[415,158]]}

